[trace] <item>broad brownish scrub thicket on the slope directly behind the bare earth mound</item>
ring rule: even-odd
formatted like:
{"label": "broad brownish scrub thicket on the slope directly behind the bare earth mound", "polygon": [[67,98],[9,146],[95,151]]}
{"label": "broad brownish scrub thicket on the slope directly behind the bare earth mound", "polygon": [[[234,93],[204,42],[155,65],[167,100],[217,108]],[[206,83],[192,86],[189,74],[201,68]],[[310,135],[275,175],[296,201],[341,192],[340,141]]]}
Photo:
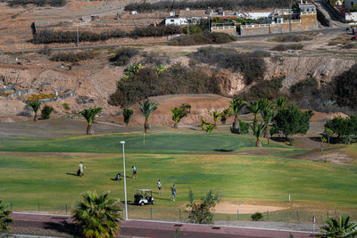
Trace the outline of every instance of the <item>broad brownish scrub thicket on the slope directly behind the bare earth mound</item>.
{"label": "broad brownish scrub thicket on the slope directly behind the bare earth mound", "polygon": [[222,86],[229,86],[228,78],[220,73],[207,75],[200,68],[187,69],[179,64],[158,72],[155,67],[128,70],[110,96],[112,105],[129,106],[149,96],[165,94],[223,94]]}

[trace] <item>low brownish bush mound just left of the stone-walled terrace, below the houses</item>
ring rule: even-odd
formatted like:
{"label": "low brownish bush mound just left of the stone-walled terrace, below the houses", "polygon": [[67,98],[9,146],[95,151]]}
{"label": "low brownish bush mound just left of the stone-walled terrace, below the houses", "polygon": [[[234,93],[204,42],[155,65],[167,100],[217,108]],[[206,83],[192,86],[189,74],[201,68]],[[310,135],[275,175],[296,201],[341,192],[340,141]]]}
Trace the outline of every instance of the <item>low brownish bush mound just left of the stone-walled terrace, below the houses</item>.
{"label": "low brownish bush mound just left of the stone-walled terrace, below the houses", "polygon": [[205,32],[202,34],[185,35],[170,40],[170,45],[206,45],[206,44],[224,44],[235,41],[236,38],[226,33]]}

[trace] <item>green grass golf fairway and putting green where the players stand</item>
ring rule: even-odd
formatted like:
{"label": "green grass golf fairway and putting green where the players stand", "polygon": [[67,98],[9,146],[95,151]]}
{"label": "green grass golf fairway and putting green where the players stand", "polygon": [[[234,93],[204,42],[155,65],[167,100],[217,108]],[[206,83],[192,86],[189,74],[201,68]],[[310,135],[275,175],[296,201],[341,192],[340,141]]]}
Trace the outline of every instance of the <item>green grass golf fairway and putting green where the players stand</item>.
{"label": "green grass golf fairway and putting green where the players stand", "polygon": [[[253,150],[252,136],[200,133],[148,135],[145,147],[140,134],[1,139],[0,199],[12,201],[15,210],[37,210],[40,204],[41,210],[53,212],[64,212],[65,205],[71,207],[86,191],[111,191],[123,201],[122,181],[111,179],[123,170],[120,140],[126,141],[127,175],[131,165],[138,173],[137,179],[127,179],[129,200],[137,188],[157,192],[157,180],[162,179],[165,193],[154,193],[156,210],[182,208],[190,188],[195,199],[213,189],[226,201],[276,201],[286,206],[290,193],[293,201],[320,203],[322,209],[327,209],[324,204],[347,209],[357,205],[356,165],[281,158],[303,150],[275,143]],[[235,154],[243,150],[259,155]],[[80,160],[87,167],[85,176],[71,175]],[[175,202],[170,201],[173,183],[178,188]]]}

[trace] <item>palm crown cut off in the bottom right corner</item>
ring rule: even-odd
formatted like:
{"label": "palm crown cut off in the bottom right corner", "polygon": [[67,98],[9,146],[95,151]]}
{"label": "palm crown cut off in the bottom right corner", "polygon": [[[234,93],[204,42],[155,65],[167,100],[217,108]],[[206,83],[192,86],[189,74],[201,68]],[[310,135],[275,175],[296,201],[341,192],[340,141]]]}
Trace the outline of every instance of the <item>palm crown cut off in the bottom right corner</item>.
{"label": "palm crown cut off in the bottom right corner", "polygon": [[349,216],[340,216],[339,219],[329,218],[327,225],[320,228],[321,237],[356,237],[357,224],[350,222]]}

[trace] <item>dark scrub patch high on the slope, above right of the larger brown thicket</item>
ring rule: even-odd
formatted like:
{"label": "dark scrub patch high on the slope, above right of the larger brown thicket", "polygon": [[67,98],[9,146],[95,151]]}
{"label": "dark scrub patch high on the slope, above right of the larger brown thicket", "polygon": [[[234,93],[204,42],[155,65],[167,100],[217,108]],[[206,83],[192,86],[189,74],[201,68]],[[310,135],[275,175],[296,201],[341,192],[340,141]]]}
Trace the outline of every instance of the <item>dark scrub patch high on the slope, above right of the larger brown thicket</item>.
{"label": "dark scrub patch high on the slope, above right of the larger brown thicket", "polygon": [[245,84],[250,85],[263,78],[266,66],[262,55],[259,52],[237,53],[231,49],[210,46],[199,48],[191,57],[198,62],[241,72],[245,76]]}

